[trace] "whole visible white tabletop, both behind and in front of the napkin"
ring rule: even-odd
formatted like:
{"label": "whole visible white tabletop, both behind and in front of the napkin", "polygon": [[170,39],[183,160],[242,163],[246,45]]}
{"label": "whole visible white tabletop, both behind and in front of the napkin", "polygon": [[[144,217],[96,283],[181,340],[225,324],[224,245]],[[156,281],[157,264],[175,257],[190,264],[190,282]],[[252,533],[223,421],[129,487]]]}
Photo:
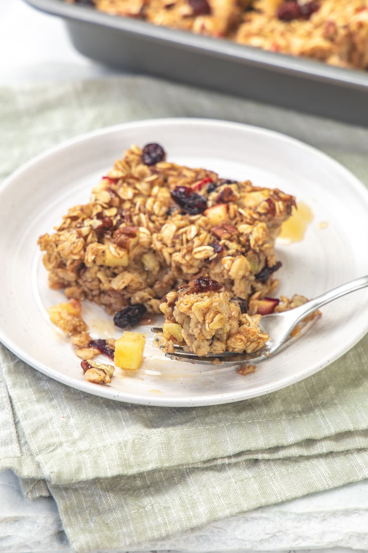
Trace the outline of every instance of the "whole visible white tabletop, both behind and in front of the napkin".
{"label": "whole visible white tabletop, both behind and in front of the napkin", "polygon": [[[60,20],[36,12],[21,0],[0,0],[0,84],[106,74],[111,70],[73,50]],[[139,544],[136,551],[303,553],[310,549],[368,551],[368,481],[215,521]],[[54,500],[30,502],[23,498],[12,472],[0,473],[0,553],[55,551],[70,553],[71,549]]]}

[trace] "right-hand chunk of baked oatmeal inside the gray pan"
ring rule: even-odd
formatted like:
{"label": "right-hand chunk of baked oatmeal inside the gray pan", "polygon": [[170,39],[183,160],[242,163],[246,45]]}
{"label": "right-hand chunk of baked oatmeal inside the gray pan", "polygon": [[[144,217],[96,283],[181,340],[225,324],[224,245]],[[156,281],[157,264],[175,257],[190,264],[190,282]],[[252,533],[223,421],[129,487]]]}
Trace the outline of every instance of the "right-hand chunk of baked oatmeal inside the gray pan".
{"label": "right-hand chunk of baked oatmeal inside the gray pan", "polygon": [[255,0],[253,5],[254,11],[243,15],[237,42],[342,67],[368,67],[367,0]]}

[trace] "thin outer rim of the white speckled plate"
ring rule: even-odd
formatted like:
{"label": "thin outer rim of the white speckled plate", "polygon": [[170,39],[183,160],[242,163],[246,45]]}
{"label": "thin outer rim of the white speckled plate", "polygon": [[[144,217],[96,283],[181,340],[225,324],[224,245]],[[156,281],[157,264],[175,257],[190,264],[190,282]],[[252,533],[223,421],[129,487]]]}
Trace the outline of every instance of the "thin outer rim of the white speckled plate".
{"label": "thin outer rim of the white speckled plate", "polygon": [[[358,178],[356,178],[348,169],[346,169],[343,165],[339,164],[338,161],[333,160],[328,156],[327,154],[324,154],[323,152],[319,151],[316,148],[313,148],[312,146],[305,144],[301,142],[300,140],[297,140],[295,138],[291,138],[287,135],[284,135],[282,133],[278,133],[275,131],[270,131],[268,129],[260,128],[260,127],[254,127],[242,123],[234,123],[234,122],[227,122],[227,121],[217,121],[215,119],[200,119],[200,118],[161,118],[161,119],[149,119],[145,121],[136,121],[136,122],[129,122],[129,123],[121,123],[115,126],[106,127],[102,129],[98,129],[93,132],[89,132],[86,134],[79,135],[78,137],[72,138],[70,140],[67,140],[55,147],[52,147],[46,152],[41,153],[37,156],[35,156],[33,159],[29,160],[27,163],[22,165],[19,169],[14,171],[12,175],[10,175],[6,180],[3,181],[2,185],[0,186],[0,202],[2,200],[3,192],[8,190],[9,187],[12,187],[13,181],[15,179],[18,179],[20,176],[23,176],[26,174],[26,171],[28,171],[30,168],[33,168],[36,165],[41,165],[44,161],[49,158],[49,156],[57,154],[57,153],[63,153],[64,150],[67,148],[70,148],[73,145],[80,144],[85,142],[86,140],[93,139],[95,137],[104,137],[104,135],[110,133],[110,132],[116,132],[116,131],[128,131],[131,128],[150,128],[159,126],[161,124],[164,124],[166,126],[198,126],[204,125],[208,128],[212,128],[214,132],[216,131],[231,131],[231,129],[244,129],[247,130],[250,133],[256,133],[258,135],[264,135],[268,137],[273,137],[278,140],[284,141],[285,144],[296,144],[305,150],[305,152],[310,152],[314,156],[319,156],[321,161],[324,161],[330,166],[334,166],[335,170],[338,170],[340,174],[344,177],[346,181],[349,182],[349,191],[351,194],[355,194],[357,197],[357,201],[364,202],[367,206],[367,212],[368,212],[368,190],[366,190],[365,186],[360,182]],[[0,232],[1,232],[1,223],[0,223]],[[356,275],[361,276],[361,275]],[[286,388],[290,386],[291,384],[294,384],[296,382],[299,382],[300,380],[305,379],[306,377],[320,371],[324,367],[328,366],[330,363],[334,362],[341,356],[343,356],[344,353],[348,352],[353,346],[358,343],[362,337],[365,336],[365,334],[368,332],[368,319],[364,317],[360,317],[359,322],[361,324],[355,325],[355,332],[353,335],[349,337],[348,340],[344,343],[337,344],[336,348],[332,352],[326,352],[326,355],[324,355],[318,363],[312,364],[308,369],[305,369],[303,371],[298,371],[294,374],[292,374],[290,377],[282,378],[282,379],[276,379],[273,382],[269,382],[265,385],[259,386],[258,389],[243,389],[240,392],[231,392],[226,394],[212,394],[210,397],[208,396],[196,396],[195,398],[165,398],[165,397],[147,397],[142,396],[138,397],[135,394],[129,394],[129,393],[121,393],[118,391],[115,391],[110,387],[103,387],[103,386],[95,386],[93,389],[91,389],[90,384],[87,382],[79,381],[77,379],[74,379],[73,377],[68,377],[67,375],[58,372],[56,369],[50,368],[49,366],[45,365],[44,363],[40,362],[38,359],[36,359],[33,356],[30,356],[28,352],[23,349],[22,346],[20,346],[18,343],[16,343],[12,338],[10,338],[7,334],[6,328],[0,326],[0,341],[8,348],[10,351],[12,351],[15,355],[17,355],[20,359],[22,359],[24,362],[28,363],[31,367],[35,368],[36,370],[40,371],[41,373],[58,380],[58,382],[61,382],[63,384],[66,384],[72,388],[76,388],[81,390],[82,392],[87,392],[89,394],[97,395],[102,398],[106,399],[114,399],[119,401],[124,401],[125,403],[134,403],[134,404],[141,404],[141,405],[157,405],[157,406],[203,406],[203,405],[218,405],[218,404],[224,404],[224,403],[231,403],[233,401],[241,401],[244,399],[249,399],[253,397],[258,397],[260,395],[269,394],[271,392],[275,392],[276,390]]]}

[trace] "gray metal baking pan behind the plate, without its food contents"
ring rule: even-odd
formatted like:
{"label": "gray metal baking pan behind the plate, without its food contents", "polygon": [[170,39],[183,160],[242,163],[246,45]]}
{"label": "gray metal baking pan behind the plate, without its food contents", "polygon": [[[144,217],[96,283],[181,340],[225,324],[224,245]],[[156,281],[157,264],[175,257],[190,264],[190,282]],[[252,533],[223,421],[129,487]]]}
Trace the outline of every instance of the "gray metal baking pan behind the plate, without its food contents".
{"label": "gray metal baking pan behind the plate, without its food contents", "polygon": [[102,64],[368,126],[368,71],[158,27],[63,0],[26,0],[65,19],[75,48]]}

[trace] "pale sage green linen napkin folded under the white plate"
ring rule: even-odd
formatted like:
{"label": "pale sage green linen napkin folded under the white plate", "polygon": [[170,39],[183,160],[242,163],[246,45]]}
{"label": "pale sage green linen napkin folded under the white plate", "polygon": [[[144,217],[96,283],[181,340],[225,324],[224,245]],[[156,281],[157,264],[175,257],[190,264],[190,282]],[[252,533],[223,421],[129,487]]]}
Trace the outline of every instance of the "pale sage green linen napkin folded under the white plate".
{"label": "pale sage green linen napkin folded under the white plate", "polygon": [[[0,175],[130,119],[220,117],[317,145],[368,181],[368,131],[146,77],[0,88]],[[201,408],[122,404],[51,380],[0,346],[0,469],[51,494],[74,549],[128,549],[368,477],[368,336],[271,395]]]}

